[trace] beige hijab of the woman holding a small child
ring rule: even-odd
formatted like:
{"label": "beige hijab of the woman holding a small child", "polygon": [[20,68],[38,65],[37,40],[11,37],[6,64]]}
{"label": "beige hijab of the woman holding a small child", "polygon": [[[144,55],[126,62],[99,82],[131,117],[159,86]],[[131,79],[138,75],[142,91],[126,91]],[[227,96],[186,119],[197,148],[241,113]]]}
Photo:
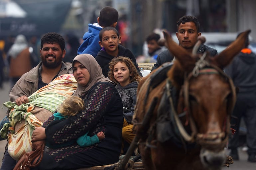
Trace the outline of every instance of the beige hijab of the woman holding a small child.
{"label": "beige hijab of the woman holding a small child", "polygon": [[77,84],[77,89],[75,90],[74,94],[75,96],[80,96],[84,94],[86,91],[88,91],[93,85],[95,85],[98,82],[109,82],[112,83],[108,78],[105,78],[105,76],[102,74],[102,69],[95,60],[95,58],[90,54],[79,54],[75,56],[73,59],[72,65],[74,65],[74,61],[78,61],[84,67],[88,70],[90,74],[90,80],[87,85],[81,86]]}

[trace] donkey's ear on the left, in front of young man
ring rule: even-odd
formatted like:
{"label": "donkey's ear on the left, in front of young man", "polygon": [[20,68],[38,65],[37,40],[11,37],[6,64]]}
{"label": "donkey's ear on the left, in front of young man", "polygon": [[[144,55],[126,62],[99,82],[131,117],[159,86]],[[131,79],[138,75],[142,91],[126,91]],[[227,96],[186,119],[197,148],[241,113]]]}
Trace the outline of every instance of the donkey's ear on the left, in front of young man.
{"label": "donkey's ear on the left, in front of young man", "polygon": [[165,45],[175,56],[175,59],[181,63],[185,71],[191,71],[195,64],[195,59],[183,47],[178,45],[171,37],[168,31],[164,30]]}

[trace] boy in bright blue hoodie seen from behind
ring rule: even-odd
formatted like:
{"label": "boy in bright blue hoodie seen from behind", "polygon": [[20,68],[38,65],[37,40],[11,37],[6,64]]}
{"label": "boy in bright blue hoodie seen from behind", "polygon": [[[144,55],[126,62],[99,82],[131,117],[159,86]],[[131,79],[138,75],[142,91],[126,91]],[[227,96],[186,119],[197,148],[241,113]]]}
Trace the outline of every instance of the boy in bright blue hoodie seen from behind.
{"label": "boy in bright blue hoodie seen from behind", "polygon": [[83,35],[83,43],[77,50],[77,54],[91,54],[96,57],[101,50],[99,45],[99,31],[104,27],[116,27],[118,12],[115,8],[104,7],[100,10],[98,23],[88,24],[88,31]]}

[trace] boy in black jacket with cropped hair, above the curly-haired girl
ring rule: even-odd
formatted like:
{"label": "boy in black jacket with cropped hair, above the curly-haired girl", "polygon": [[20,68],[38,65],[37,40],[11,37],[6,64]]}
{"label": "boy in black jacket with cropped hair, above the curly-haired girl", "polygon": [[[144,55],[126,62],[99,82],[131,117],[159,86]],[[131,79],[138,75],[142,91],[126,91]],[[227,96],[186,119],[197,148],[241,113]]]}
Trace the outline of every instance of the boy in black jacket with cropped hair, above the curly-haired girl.
{"label": "boy in black jacket with cropped hair, above the curly-haired girl", "polygon": [[118,31],[114,27],[104,27],[99,32],[99,45],[102,47],[98,55],[95,57],[96,61],[102,69],[102,73],[105,77],[108,77],[109,72],[109,63],[114,57],[126,56],[129,57],[140,76],[138,64],[136,62],[135,56],[128,49],[120,45],[121,37],[119,36]]}

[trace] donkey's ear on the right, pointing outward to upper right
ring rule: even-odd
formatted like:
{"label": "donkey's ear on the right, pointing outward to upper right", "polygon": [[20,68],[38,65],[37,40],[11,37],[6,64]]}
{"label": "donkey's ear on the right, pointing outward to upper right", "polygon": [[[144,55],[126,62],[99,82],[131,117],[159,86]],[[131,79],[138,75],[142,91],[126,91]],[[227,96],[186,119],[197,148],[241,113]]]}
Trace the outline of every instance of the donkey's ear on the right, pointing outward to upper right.
{"label": "donkey's ear on the right, pointing outward to upper right", "polygon": [[250,29],[242,32],[235,41],[233,41],[225,50],[212,59],[213,63],[221,69],[226,67],[236,56],[236,54],[242,50],[245,40],[250,32]]}

